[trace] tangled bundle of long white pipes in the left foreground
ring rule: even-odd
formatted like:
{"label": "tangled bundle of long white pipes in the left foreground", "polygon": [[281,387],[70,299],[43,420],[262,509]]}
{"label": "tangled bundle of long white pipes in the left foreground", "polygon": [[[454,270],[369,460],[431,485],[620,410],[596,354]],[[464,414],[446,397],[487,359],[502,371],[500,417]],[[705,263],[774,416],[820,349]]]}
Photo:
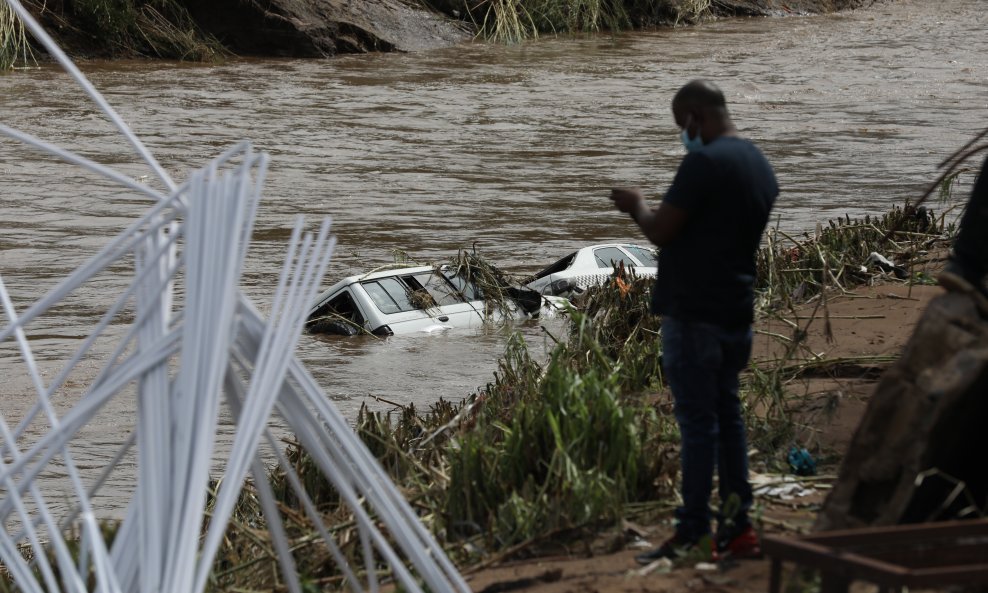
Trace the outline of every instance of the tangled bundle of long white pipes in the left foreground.
{"label": "tangled bundle of long white pipes in the left foreground", "polygon": [[[380,464],[293,355],[333,250],[329,221],[315,233],[303,232],[302,220],[297,221],[270,319],[263,319],[241,293],[239,282],[267,156],[244,142],[176,184],[20,2],[6,2],[166,188],[156,191],[0,124],[0,133],[118,183],[137,199],[152,200],[139,220],[22,312],[15,310],[0,270],[0,345],[16,344],[37,394],[37,402],[15,426],[0,415],[0,561],[17,587],[83,593],[95,582],[96,590],[106,592],[203,591],[250,472],[278,552],[282,581],[290,591],[300,592],[290,543],[260,460],[263,443],[274,452],[302,510],[317,526],[352,590],[378,590],[376,566],[383,561],[404,590],[469,591]],[[46,384],[25,328],[96,274],[127,261],[135,263],[129,287],[108,302],[96,327]],[[177,283],[184,289],[181,298],[176,296]],[[120,323],[124,311],[133,319],[109,362],[59,415],[53,395],[87,359],[94,342],[105,339],[110,324]],[[136,428],[119,444],[115,460],[131,454],[136,445],[136,484],[126,516],[108,544],[91,499],[116,464],[109,463],[101,475],[84,483],[72,444],[107,402],[134,392]],[[224,405],[236,430],[221,459],[222,475],[212,476],[220,487],[207,525],[210,467],[221,455],[216,435]],[[268,429],[274,414],[351,507],[362,542],[363,570],[348,564],[330,526],[280,451]],[[50,430],[32,437],[26,428],[39,415]],[[38,480],[51,473],[55,463],[73,493],[71,512],[62,516],[53,512]]]}

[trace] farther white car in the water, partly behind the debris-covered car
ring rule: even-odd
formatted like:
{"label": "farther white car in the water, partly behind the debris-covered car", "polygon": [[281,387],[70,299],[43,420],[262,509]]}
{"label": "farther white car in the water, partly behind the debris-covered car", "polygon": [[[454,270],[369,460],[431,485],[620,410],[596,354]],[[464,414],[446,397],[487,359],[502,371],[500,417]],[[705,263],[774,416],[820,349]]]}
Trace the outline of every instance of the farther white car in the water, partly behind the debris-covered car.
{"label": "farther white car in the water, partly behind the debris-covered car", "polygon": [[658,273],[655,249],[631,243],[602,243],[570,253],[536,273],[525,286],[544,296],[570,297],[607,282],[621,264],[637,276]]}

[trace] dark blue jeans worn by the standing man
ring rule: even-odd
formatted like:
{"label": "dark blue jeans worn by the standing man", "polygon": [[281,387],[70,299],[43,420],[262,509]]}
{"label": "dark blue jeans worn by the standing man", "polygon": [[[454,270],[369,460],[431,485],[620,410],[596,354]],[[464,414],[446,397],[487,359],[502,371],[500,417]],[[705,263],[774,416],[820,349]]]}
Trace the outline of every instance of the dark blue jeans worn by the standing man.
{"label": "dark blue jeans worn by the standing man", "polygon": [[710,534],[714,468],[721,510],[731,495],[740,503],[731,517],[718,515],[718,521],[731,519],[738,529],[748,525],[752,495],[738,374],[751,356],[751,335],[750,327],[662,319],[662,367],[682,436],[683,506],[676,510],[676,534],[689,541]]}

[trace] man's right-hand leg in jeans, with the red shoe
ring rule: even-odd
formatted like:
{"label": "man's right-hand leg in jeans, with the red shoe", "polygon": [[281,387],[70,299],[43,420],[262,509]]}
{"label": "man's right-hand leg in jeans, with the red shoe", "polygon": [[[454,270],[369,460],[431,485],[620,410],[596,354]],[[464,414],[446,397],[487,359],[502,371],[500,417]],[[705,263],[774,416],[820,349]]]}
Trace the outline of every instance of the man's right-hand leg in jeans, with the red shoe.
{"label": "man's right-hand leg in jeans, with the red shoe", "polygon": [[758,558],[761,542],[752,528],[748,511],[753,503],[748,479],[748,441],[738,375],[751,357],[751,328],[723,330],[724,365],[718,379],[717,403],[720,442],[717,457],[720,513],[717,516],[717,550],[722,556]]}

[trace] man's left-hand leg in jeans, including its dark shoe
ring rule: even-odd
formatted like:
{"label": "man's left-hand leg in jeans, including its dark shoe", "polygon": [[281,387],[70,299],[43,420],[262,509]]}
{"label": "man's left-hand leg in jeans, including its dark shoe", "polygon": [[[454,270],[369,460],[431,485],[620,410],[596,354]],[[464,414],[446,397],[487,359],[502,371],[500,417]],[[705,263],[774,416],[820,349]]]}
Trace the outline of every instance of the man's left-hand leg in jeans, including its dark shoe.
{"label": "man's left-hand leg in jeans, including its dark shoe", "polygon": [[642,564],[662,557],[674,559],[712,542],[709,506],[717,458],[716,368],[721,362],[720,346],[704,324],[665,317],[662,357],[681,435],[683,506],[676,510],[675,535],[637,556]]}

